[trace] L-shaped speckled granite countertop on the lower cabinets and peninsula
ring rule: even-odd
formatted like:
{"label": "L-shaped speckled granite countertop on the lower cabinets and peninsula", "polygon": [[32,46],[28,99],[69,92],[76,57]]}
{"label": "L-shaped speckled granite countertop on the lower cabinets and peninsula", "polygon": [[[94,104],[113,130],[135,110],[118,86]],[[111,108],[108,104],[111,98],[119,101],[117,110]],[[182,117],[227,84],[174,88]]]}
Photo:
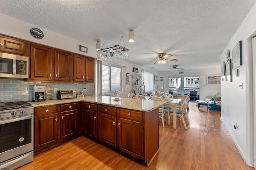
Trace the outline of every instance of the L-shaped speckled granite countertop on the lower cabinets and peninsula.
{"label": "L-shaped speckled granite countertop on the lower cabinets and peninsula", "polygon": [[61,99],[61,100],[46,100],[43,102],[29,102],[33,107],[50,106],[55,104],[66,104],[72,102],[90,102],[95,104],[103,104],[108,106],[122,107],[127,109],[134,109],[140,111],[152,111],[160,106],[163,106],[165,102],[158,102],[152,100],[119,98],[119,101],[115,101],[111,96],[86,96],[81,98]]}

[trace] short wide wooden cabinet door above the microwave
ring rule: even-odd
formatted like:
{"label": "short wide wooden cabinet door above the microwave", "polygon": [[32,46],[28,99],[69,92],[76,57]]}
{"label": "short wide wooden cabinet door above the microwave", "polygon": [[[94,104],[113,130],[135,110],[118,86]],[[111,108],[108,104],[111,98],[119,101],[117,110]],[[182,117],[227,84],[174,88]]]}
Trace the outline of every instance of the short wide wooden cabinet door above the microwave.
{"label": "short wide wooden cabinet door above the microwave", "polygon": [[0,37],[0,51],[2,52],[27,55],[27,46],[26,42]]}

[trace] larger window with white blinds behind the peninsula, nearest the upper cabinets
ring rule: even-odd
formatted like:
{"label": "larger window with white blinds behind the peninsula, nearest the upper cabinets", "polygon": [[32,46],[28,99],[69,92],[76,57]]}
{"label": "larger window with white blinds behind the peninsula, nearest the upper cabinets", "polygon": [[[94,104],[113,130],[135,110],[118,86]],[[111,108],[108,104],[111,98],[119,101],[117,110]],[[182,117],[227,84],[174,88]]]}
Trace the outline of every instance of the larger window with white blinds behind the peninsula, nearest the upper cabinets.
{"label": "larger window with white blinds behind the peninsula, nearest the upper cabinets", "polygon": [[121,91],[122,68],[111,64],[102,63],[102,94]]}

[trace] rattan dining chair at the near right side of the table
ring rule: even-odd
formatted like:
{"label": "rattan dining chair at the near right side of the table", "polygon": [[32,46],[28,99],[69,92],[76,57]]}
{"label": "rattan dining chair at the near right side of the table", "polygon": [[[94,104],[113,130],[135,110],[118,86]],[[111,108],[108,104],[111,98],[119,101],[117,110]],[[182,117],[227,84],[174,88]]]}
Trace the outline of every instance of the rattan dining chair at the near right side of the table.
{"label": "rattan dining chair at the near right side of the table", "polygon": [[[188,107],[188,96],[186,97],[186,99],[183,101],[182,106],[179,107],[176,110],[177,113],[177,117],[179,117],[180,119],[182,119],[183,125],[185,127],[185,129],[188,129],[187,124],[189,124],[188,121],[188,113],[187,113],[187,107]],[[168,110],[168,118],[173,118],[173,109],[170,108]]]}

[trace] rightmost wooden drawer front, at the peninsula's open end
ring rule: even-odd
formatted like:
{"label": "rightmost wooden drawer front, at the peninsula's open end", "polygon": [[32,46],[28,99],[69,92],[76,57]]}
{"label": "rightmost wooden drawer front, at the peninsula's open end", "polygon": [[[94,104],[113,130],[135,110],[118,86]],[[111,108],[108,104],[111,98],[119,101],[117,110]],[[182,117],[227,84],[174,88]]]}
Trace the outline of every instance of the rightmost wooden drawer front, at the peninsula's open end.
{"label": "rightmost wooden drawer front, at the peninsula's open end", "polygon": [[118,109],[117,116],[143,121],[143,112],[128,109]]}

